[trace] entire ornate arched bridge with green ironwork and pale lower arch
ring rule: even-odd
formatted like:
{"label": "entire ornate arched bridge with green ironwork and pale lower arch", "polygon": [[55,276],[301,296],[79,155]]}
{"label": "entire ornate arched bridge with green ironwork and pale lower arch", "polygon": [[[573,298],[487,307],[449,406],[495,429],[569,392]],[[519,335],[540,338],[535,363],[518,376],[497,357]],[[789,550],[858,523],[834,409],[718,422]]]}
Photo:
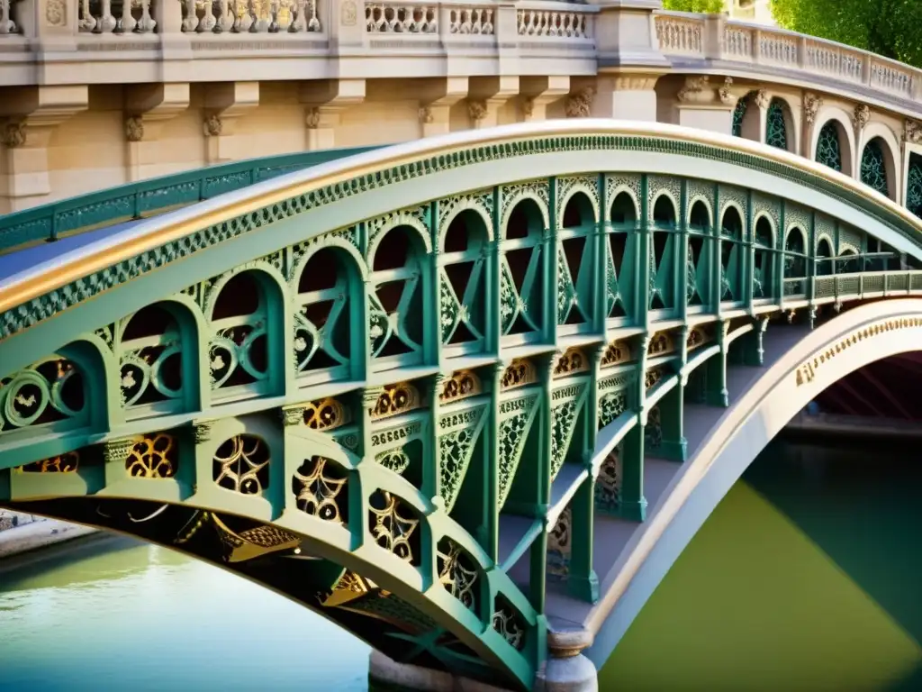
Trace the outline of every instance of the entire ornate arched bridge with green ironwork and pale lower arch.
{"label": "entire ornate arched bridge with green ironwork and pale lower arch", "polygon": [[[916,215],[745,137],[276,164],[151,219],[138,189],[0,219],[0,507],[252,579],[372,674],[587,684],[787,421],[922,338]],[[74,209],[109,216],[34,242]]]}

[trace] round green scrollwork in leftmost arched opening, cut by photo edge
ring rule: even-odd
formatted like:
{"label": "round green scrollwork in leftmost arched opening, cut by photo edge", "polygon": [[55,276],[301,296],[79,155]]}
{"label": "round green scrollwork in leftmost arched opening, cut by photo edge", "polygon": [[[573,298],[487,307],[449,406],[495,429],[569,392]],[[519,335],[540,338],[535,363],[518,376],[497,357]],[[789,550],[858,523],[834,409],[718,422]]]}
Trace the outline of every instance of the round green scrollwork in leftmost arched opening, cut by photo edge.
{"label": "round green scrollwork in leftmost arched opening, cut by photo edge", "polygon": [[65,419],[82,422],[89,402],[83,375],[66,358],[54,357],[0,378],[0,435]]}

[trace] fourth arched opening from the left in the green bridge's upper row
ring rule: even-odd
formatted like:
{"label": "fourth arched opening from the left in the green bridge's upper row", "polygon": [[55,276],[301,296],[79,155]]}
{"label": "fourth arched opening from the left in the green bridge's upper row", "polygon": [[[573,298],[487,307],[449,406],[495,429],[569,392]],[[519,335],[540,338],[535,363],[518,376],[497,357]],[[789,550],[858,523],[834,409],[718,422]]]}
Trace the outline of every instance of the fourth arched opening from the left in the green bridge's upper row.
{"label": "fourth arched opening from the left in the green bridge's upper row", "polygon": [[354,246],[338,239],[307,249],[293,272],[298,385],[364,375],[364,275]]}

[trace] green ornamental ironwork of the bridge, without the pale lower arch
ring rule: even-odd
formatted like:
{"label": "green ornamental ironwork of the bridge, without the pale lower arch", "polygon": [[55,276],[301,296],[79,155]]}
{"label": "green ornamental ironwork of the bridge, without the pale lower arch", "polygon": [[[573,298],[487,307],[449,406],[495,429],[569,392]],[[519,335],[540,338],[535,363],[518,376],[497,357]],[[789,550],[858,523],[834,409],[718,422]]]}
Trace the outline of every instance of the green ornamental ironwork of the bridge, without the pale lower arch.
{"label": "green ornamental ironwork of the bridge, without the pale lower arch", "polygon": [[[644,519],[644,457],[685,459],[683,401],[727,405],[728,359],[760,362],[765,315],[922,291],[922,272],[886,268],[847,219],[662,174],[523,170],[312,219],[488,156],[673,146],[542,137],[402,162],[113,268],[117,304],[81,280],[10,311],[0,505],[228,561],[404,660],[530,686],[547,592],[597,599],[595,515]],[[739,355],[732,320],[752,332]],[[48,352],[9,365],[33,334]],[[303,583],[281,576],[295,550],[323,567]]]}

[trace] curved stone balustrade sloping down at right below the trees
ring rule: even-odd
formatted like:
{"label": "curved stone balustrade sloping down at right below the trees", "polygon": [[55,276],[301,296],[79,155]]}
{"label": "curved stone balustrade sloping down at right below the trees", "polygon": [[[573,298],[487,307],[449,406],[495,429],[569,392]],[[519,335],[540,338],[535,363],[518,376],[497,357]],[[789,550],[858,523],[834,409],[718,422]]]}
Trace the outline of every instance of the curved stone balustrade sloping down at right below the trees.
{"label": "curved stone balustrade sloping down at right below the trees", "polygon": [[[659,50],[684,61],[743,63],[791,73],[805,81],[841,82],[872,89],[883,99],[917,101],[922,70],[857,48],[782,29],[729,21],[723,15],[659,12]],[[767,71],[767,70],[764,70]]]}

